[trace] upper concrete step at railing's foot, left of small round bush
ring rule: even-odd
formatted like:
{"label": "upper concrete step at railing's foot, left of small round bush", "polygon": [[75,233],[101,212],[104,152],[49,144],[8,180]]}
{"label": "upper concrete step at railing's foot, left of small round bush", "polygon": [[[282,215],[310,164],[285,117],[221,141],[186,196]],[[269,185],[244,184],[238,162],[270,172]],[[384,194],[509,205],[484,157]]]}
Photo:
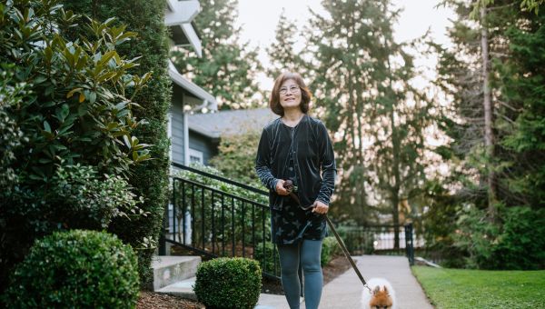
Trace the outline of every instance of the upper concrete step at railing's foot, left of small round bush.
{"label": "upper concrete step at railing's foot, left of small round bush", "polygon": [[200,256],[154,256],[152,262],[152,268],[154,269],[154,291],[193,277],[200,263]]}

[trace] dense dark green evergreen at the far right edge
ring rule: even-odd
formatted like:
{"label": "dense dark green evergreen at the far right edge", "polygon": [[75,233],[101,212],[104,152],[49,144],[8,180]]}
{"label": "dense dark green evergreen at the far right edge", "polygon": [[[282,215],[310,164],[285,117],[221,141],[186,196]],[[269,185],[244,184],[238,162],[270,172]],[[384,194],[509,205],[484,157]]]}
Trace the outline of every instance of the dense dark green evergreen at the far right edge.
{"label": "dense dark green evergreen at the far right edge", "polygon": [[499,143],[510,152],[503,182],[514,197],[508,204],[534,209],[545,206],[545,14],[538,12],[521,12],[510,24],[510,56],[496,65],[505,132]]}

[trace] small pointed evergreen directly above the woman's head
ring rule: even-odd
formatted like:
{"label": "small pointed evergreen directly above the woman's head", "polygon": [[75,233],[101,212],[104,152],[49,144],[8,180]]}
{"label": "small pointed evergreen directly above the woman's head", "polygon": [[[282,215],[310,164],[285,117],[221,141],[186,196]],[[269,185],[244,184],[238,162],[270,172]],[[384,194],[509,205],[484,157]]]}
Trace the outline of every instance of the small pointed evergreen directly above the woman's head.
{"label": "small pointed evergreen directly above the woman's head", "polygon": [[295,23],[289,20],[282,10],[276,25],[276,40],[267,48],[267,54],[271,59],[271,66],[266,70],[269,77],[276,78],[283,71],[304,75],[301,56],[293,50],[297,41],[296,35],[298,33]]}

